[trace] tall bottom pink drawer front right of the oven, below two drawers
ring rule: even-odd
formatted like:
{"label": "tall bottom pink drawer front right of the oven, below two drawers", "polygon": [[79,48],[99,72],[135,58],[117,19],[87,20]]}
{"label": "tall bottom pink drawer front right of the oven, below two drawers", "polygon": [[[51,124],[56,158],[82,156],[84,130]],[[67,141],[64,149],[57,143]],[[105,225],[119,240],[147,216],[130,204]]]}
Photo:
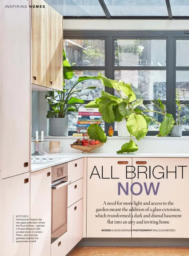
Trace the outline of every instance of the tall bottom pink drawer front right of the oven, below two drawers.
{"label": "tall bottom pink drawer front right of the oven, below two drawers", "polygon": [[68,246],[74,246],[83,238],[83,199],[68,208]]}

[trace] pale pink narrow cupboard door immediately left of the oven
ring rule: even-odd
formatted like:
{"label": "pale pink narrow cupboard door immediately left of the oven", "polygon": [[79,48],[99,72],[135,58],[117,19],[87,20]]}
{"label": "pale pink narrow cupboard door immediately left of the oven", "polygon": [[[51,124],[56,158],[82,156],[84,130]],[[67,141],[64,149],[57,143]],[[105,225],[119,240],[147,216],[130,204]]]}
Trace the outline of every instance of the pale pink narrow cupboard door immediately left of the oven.
{"label": "pale pink narrow cupboard door immediately left of the oven", "polygon": [[30,256],[51,256],[51,168],[31,173],[30,218],[45,222],[43,233],[30,243]]}

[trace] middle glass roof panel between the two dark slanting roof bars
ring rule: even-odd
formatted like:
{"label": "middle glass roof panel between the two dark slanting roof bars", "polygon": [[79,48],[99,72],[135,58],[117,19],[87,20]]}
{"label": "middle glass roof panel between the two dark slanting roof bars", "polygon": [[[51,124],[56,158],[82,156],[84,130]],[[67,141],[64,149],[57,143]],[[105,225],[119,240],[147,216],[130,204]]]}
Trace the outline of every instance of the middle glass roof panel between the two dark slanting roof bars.
{"label": "middle glass roof panel between the two dark slanting roof bars", "polygon": [[168,16],[165,0],[105,0],[112,16]]}

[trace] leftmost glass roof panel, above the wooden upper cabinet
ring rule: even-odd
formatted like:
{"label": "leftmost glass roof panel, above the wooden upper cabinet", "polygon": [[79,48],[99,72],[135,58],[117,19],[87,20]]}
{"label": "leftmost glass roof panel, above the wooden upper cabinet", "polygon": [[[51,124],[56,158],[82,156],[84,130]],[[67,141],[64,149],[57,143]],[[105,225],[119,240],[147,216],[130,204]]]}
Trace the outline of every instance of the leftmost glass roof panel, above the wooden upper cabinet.
{"label": "leftmost glass roof panel, above the wooden upper cabinet", "polygon": [[98,0],[45,0],[45,2],[63,16],[105,16]]}

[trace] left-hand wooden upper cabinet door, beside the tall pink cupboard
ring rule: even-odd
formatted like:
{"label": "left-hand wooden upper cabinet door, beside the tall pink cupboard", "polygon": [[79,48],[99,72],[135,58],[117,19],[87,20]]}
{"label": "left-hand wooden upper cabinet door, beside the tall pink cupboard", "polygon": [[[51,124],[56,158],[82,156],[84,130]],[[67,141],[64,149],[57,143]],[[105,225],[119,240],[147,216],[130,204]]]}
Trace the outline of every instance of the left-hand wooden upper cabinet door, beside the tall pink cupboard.
{"label": "left-hand wooden upper cabinet door, beside the tall pink cupboard", "polygon": [[43,0],[32,0],[32,83],[50,87],[49,82],[49,31],[48,4]]}

